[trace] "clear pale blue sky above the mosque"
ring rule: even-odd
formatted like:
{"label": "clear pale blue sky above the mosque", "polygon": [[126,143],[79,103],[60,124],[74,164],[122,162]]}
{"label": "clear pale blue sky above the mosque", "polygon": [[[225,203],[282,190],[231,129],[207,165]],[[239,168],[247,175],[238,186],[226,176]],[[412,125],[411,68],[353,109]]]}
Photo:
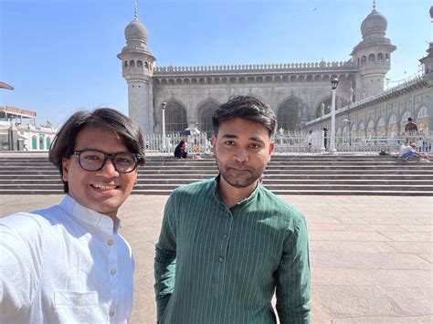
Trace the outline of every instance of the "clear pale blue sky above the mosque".
{"label": "clear pale blue sky above the mosque", "polygon": [[[397,49],[390,86],[419,69],[431,0],[377,0]],[[128,111],[116,57],[133,0],[0,0],[0,105],[56,126],[79,109]],[[159,67],[345,61],[372,0],[138,0]],[[405,73],[406,72],[406,73]],[[330,89],[331,91],[331,89]]]}

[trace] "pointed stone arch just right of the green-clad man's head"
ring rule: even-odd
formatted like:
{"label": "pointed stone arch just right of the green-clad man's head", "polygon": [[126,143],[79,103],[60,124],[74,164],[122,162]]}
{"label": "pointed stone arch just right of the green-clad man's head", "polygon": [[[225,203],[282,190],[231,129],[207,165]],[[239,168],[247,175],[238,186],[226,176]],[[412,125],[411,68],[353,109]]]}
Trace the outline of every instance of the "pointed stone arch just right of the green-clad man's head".
{"label": "pointed stone arch just right of the green-clad man's head", "polygon": [[301,127],[300,118],[302,110],[302,100],[291,96],[284,100],[277,111],[277,122],[279,129],[285,131],[296,131]]}

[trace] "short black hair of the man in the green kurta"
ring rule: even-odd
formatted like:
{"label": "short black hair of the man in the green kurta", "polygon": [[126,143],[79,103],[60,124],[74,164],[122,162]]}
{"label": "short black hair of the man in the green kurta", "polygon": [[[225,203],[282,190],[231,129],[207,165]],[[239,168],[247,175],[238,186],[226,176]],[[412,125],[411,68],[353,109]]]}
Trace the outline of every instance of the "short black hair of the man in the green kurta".
{"label": "short black hair of the man in the green kurta", "polygon": [[218,134],[221,122],[237,117],[255,121],[265,126],[269,132],[269,138],[277,129],[277,119],[274,111],[266,102],[254,96],[233,96],[215,110],[212,116],[214,133]]}

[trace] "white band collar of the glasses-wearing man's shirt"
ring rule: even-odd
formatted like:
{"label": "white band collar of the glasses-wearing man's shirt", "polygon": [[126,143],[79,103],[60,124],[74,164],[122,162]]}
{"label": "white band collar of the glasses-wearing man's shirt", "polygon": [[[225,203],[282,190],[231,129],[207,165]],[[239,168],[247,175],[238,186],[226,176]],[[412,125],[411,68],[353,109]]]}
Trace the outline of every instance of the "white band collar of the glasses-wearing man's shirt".
{"label": "white band collar of the glasses-wearing man's shirt", "polygon": [[79,222],[86,223],[92,227],[100,229],[102,232],[108,234],[116,234],[121,225],[121,220],[116,217],[113,222],[111,217],[106,214],[100,214],[92,209],[84,207],[79,204],[69,194],[63,197],[63,200],[59,204],[60,208],[65,210],[70,216],[79,220]]}

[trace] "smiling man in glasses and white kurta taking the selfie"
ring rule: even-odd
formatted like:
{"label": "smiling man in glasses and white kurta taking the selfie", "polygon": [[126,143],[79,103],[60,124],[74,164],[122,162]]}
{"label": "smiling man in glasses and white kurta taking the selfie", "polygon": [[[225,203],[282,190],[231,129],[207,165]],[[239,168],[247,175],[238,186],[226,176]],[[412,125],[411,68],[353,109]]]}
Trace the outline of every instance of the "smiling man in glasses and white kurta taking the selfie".
{"label": "smiling man in glasses and white kurta taking the selfie", "polygon": [[131,248],[118,210],[144,163],[142,133],[120,112],[79,111],[49,152],[65,191],[47,209],[0,218],[1,323],[124,323]]}

